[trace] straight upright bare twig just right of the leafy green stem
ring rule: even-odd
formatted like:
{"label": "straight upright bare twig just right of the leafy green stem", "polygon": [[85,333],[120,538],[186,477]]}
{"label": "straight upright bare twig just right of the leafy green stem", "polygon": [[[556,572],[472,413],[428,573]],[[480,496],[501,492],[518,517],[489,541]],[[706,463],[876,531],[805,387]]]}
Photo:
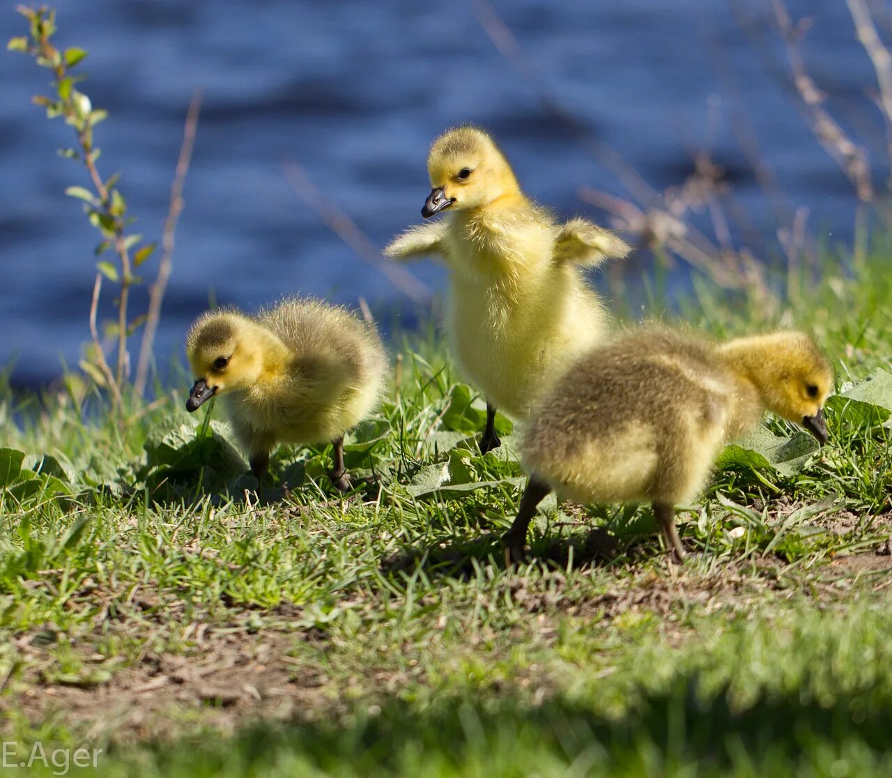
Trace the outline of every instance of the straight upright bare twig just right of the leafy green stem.
{"label": "straight upright bare twig just right of the leafy green stem", "polygon": [[167,290],[170,277],[177,224],[185,207],[183,186],[186,183],[186,175],[192,162],[192,150],[195,145],[195,133],[198,129],[198,117],[201,110],[202,92],[196,89],[192,95],[192,101],[189,103],[189,111],[186,113],[186,125],[183,128],[183,142],[179,147],[177,170],[174,173],[173,183],[170,185],[170,203],[161,236],[161,260],[158,262],[158,275],[149,292],[149,310],[145,319],[145,330],[143,331],[143,341],[139,347],[139,360],[136,363],[136,379],[134,380],[134,392],[137,397],[143,396],[148,381],[155,333],[158,330],[159,319],[161,319],[161,302],[164,300],[164,293]]}

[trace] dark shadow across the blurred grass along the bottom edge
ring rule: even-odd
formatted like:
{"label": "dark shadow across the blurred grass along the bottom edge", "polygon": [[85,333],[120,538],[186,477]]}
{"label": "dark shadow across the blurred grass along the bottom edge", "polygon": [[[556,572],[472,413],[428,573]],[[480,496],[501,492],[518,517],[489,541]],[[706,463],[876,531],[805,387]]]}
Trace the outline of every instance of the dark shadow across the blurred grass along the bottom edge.
{"label": "dark shadow across the blurred grass along the bottom edge", "polygon": [[[289,774],[289,766],[363,776],[662,775],[682,766],[685,774],[865,775],[892,761],[881,756],[892,731],[885,695],[856,691],[819,705],[793,690],[735,706],[727,688],[700,689],[696,675],[680,675],[666,691],[632,690],[615,717],[568,699],[533,706],[480,691],[430,706],[389,699],[340,720],[256,724],[228,741],[215,735],[111,757],[171,776]],[[840,758],[847,771],[831,773]]]}

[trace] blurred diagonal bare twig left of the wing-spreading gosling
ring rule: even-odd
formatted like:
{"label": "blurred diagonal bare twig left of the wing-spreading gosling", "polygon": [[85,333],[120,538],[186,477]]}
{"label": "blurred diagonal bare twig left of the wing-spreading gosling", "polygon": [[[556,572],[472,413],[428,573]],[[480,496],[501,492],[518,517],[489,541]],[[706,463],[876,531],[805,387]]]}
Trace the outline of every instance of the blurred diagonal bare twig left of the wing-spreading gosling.
{"label": "blurred diagonal bare twig left of the wing-spreading gosling", "polygon": [[368,236],[359,229],[356,222],[338,209],[334,203],[326,200],[296,161],[286,157],[282,162],[282,166],[285,170],[285,178],[288,179],[288,183],[293,186],[294,191],[301,197],[301,200],[310,205],[319,214],[326,226],[340,237],[345,244],[349,245],[359,255],[359,259],[367,262],[381,275],[386,277],[393,286],[396,286],[412,302],[424,304],[431,299],[430,287],[418,280],[417,277],[401,265],[384,260],[381,252],[368,239]]}

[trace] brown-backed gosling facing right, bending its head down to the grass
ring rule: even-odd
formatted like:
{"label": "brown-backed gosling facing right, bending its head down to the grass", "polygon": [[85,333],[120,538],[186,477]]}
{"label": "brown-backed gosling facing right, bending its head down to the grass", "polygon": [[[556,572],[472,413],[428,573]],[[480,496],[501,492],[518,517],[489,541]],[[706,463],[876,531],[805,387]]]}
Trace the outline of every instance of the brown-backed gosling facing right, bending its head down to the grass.
{"label": "brown-backed gosling facing right, bending its head down to the grass", "polygon": [[832,387],[830,363],[798,332],[718,344],[640,327],[595,348],[533,412],[521,446],[530,481],[504,537],[506,559],[523,559],[530,519],[554,489],[581,503],[650,501],[681,561],[675,505],[703,488],[724,443],[766,409],[826,443]]}

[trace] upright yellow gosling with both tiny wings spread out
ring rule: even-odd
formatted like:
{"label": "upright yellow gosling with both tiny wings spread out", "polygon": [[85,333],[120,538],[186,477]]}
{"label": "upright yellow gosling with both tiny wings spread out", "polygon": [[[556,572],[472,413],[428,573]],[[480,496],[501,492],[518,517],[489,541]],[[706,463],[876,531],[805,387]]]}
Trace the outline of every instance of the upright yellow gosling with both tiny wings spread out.
{"label": "upright yellow gosling with both tiny wings spread out", "polygon": [[451,129],[427,158],[427,219],[384,249],[397,259],[439,254],[451,271],[447,331],[458,367],[483,389],[485,453],[500,444],[496,409],[525,418],[537,393],[607,333],[607,311],[581,269],[629,247],[585,219],[558,224],[520,190],[492,138]]}

